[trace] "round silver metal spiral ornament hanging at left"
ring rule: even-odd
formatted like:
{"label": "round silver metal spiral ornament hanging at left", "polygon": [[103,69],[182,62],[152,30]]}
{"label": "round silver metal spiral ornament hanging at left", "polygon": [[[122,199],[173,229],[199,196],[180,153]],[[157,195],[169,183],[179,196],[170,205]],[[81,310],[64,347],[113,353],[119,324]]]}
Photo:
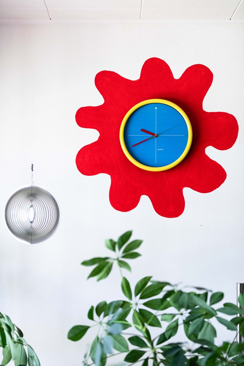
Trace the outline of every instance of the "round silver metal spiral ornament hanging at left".
{"label": "round silver metal spiral ornament hanging at left", "polygon": [[40,243],[53,235],[60,220],[55,198],[44,188],[19,188],[8,200],[5,221],[16,239],[30,244]]}

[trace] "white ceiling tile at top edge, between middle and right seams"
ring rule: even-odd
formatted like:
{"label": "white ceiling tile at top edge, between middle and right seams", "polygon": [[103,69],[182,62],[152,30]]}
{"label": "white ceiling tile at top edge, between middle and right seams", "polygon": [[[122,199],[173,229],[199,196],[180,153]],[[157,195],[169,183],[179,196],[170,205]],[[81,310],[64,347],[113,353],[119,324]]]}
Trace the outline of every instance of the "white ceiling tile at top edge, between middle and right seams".
{"label": "white ceiling tile at top edge, between middle and right seams", "polygon": [[240,0],[144,0],[143,9],[234,10]]}

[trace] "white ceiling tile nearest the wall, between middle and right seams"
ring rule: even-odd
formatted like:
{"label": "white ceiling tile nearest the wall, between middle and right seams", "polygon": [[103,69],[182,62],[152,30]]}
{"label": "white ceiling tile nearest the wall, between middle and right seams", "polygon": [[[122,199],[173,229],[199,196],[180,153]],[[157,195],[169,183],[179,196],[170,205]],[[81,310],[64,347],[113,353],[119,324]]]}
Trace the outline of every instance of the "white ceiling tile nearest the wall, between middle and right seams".
{"label": "white ceiling tile nearest the wall, between middle and right seams", "polygon": [[144,9],[143,20],[228,20],[230,10],[160,10]]}

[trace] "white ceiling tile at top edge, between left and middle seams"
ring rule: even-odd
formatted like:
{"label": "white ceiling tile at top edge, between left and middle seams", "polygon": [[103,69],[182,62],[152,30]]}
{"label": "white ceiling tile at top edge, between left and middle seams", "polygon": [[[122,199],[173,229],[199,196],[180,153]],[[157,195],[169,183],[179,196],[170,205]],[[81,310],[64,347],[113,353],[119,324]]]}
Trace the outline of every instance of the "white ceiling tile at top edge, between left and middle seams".
{"label": "white ceiling tile at top edge, between left and middle seams", "polygon": [[51,9],[140,9],[141,0],[46,0]]}

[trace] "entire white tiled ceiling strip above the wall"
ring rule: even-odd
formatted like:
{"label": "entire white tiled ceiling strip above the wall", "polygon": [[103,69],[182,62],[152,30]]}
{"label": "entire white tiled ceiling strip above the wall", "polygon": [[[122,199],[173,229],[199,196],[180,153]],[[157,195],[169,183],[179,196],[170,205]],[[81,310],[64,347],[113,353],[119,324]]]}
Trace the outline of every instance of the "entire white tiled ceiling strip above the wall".
{"label": "entire white tiled ceiling strip above the wall", "polygon": [[4,20],[239,20],[244,0],[0,0]]}

